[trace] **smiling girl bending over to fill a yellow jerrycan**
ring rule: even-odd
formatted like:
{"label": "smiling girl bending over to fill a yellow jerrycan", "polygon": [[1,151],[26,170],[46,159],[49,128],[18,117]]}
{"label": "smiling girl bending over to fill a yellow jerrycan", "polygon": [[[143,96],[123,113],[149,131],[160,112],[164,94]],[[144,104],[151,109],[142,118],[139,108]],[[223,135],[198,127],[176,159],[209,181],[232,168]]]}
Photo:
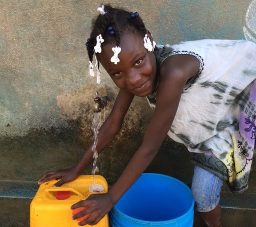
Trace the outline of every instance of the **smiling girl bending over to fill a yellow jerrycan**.
{"label": "smiling girl bending over to fill a yellow jerrycan", "polygon": [[[106,194],[95,194],[71,208],[88,206],[73,218],[96,224],[131,187],[156,156],[166,134],[195,152],[192,192],[195,209],[208,226],[221,226],[222,179],[234,192],[247,189],[252,163],[256,109],[256,45],[244,40],[198,40],[155,46],[139,14],[98,8],[87,40],[93,54],[120,88],[113,110],[99,131],[101,152],[122,127],[134,95],[154,109],[142,144]],[[99,68],[98,68],[99,76]],[[98,77],[99,79],[99,77]],[[60,177],[60,186],[82,173],[93,159],[92,146],[70,169],[46,173],[38,183]]]}

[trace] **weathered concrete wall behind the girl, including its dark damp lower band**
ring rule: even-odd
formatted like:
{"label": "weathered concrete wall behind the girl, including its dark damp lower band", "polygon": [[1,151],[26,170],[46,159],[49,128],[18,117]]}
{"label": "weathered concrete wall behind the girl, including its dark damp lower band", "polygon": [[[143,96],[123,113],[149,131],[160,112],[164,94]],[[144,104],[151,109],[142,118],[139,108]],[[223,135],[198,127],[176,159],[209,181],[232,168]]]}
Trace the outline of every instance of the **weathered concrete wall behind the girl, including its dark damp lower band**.
{"label": "weathered concrete wall behind the girl, including its dark damp lower band", "polygon": [[[256,37],[251,0],[0,1],[1,179],[34,181],[75,164],[92,138],[95,91],[111,98],[108,115],[117,89],[103,70],[100,85],[89,76],[85,48],[102,2],[138,11],[158,44]],[[150,116],[146,100],[135,99],[121,134],[100,157],[101,174],[110,183],[141,142]],[[178,166],[186,149],[169,139],[161,149],[149,170],[174,173],[175,165],[163,160],[170,150],[179,151]],[[186,169],[179,174],[189,177]]]}

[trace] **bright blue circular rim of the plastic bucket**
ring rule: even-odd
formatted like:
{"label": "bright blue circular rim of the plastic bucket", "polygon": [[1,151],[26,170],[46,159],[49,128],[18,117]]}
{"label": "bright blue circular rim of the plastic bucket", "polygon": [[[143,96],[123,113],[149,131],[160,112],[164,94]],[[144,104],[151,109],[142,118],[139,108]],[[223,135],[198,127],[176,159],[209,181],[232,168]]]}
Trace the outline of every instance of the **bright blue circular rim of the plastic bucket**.
{"label": "bright blue circular rim of the plastic bucket", "polygon": [[[165,174],[160,174],[160,173],[142,173],[140,177],[143,177],[143,176],[161,176],[161,177],[165,177],[165,178],[169,178],[169,179],[172,179],[174,181],[177,181],[179,183],[182,184],[183,187],[185,187],[190,193],[191,193],[191,190],[189,189],[188,185],[183,183],[182,181],[178,180],[178,179],[175,179],[174,177],[172,176],[169,176],[169,175],[165,175]],[[137,179],[139,180],[140,177]],[[135,183],[134,183],[135,184]],[[122,198],[122,197],[121,197]],[[117,202],[118,203],[118,202]],[[116,204],[117,205],[117,204]],[[134,217],[131,217],[127,214],[124,214],[123,212],[121,212],[121,210],[119,210],[116,205],[114,205],[114,207],[110,210],[110,215],[115,215],[115,214],[118,214],[119,216],[122,216],[124,217],[126,220],[133,220],[137,223],[145,223],[147,222],[146,220],[140,220],[138,218],[134,218]],[[192,196],[192,193],[191,193],[191,205],[189,207],[189,209],[187,210],[187,212],[185,214],[182,214],[180,215],[179,217],[176,217],[176,218],[173,218],[171,220],[164,220],[164,221],[148,221],[150,222],[150,225],[161,225],[161,224],[170,224],[170,223],[175,223],[177,221],[179,221],[180,219],[184,220],[184,217],[187,216],[189,213],[192,212],[193,210],[193,215],[194,215],[194,205],[195,205],[195,201],[194,201],[194,198]],[[115,215],[116,216],[116,215]],[[189,217],[188,217],[189,218]]]}

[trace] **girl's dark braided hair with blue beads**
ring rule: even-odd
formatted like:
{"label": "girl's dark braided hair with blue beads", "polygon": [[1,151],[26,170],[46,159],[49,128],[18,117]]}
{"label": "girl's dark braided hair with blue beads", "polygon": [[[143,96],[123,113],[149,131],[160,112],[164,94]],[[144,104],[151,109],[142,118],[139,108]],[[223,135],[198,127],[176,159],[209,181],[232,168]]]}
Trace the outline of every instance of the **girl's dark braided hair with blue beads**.
{"label": "girl's dark braided hair with blue beads", "polygon": [[[97,19],[93,21],[93,29],[86,43],[90,62],[93,61],[94,46],[97,43],[97,36],[100,34],[104,39],[102,45],[115,44],[116,46],[119,46],[121,35],[127,29],[133,33],[141,34],[142,37],[147,34],[145,24],[137,12],[129,13],[122,9],[113,8],[110,5],[104,5],[103,10],[105,12],[99,14]],[[99,62],[97,64],[99,69]]]}

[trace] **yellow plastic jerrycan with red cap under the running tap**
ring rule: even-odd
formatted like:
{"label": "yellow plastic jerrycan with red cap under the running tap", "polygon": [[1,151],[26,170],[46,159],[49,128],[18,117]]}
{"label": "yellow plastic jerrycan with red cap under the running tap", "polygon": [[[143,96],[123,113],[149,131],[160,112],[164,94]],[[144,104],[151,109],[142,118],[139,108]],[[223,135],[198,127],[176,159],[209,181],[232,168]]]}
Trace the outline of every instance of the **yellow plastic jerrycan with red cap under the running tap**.
{"label": "yellow plastic jerrycan with red cap under the running tap", "polygon": [[[41,184],[30,204],[30,227],[77,227],[77,220],[72,220],[71,205],[85,200],[94,193],[106,193],[107,181],[100,175],[81,175],[61,187],[52,187],[57,180]],[[108,214],[94,225],[109,227]]]}

